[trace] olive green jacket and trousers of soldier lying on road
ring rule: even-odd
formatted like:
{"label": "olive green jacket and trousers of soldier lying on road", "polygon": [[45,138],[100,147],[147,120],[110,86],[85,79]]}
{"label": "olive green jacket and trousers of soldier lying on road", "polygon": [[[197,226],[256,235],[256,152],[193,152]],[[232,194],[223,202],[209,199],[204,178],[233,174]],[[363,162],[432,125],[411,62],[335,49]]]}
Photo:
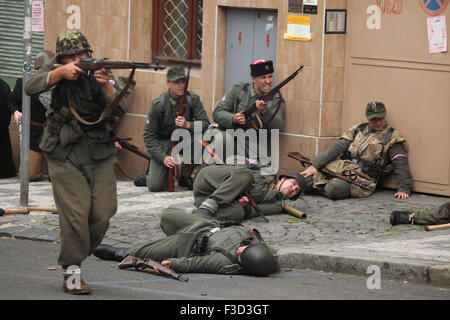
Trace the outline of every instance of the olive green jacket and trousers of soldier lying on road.
{"label": "olive green jacket and trousers of soldier lying on road", "polygon": [[[236,257],[240,246],[259,243],[244,226],[222,228],[219,221],[188,214],[179,208],[167,208],[161,215],[161,228],[167,238],[136,245],[129,250],[129,254],[142,259],[170,260],[171,268],[177,273],[239,273],[233,262],[218,251],[191,256],[195,239],[207,235],[216,227],[220,230],[209,237],[207,250],[219,247]],[[273,248],[269,248],[275,255]]]}

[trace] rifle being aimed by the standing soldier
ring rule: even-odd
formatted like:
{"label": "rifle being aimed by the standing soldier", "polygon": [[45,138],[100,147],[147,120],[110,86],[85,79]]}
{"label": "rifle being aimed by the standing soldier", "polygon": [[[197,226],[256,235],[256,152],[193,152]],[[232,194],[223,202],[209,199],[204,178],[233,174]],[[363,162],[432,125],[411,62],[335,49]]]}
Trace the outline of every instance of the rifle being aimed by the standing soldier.
{"label": "rifle being aimed by the standing soldier", "polygon": [[[122,60],[109,60],[109,59],[94,59],[94,58],[81,58],[80,62],[75,64],[78,68],[84,71],[100,70],[100,69],[155,69],[163,70],[166,67],[157,64],[151,64],[147,62],[136,61],[122,61]],[[54,64],[53,69],[62,67],[62,64]]]}

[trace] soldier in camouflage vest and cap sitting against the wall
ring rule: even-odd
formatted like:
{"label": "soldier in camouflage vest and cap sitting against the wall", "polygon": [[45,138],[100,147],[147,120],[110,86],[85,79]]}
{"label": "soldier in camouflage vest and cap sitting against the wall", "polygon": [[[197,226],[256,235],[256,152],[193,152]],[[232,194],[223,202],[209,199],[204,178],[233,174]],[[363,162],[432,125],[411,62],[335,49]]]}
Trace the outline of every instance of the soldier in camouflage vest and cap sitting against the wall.
{"label": "soldier in camouflage vest and cap sitting against the wall", "polygon": [[[375,192],[379,178],[394,169],[399,185],[394,197],[409,197],[413,181],[404,146],[406,140],[388,125],[383,103],[369,102],[366,117],[369,123],[354,125],[339,141],[311,160],[312,165],[302,172],[308,178],[306,192],[316,190],[335,200],[367,197]],[[348,176],[368,189],[328,177],[319,172],[320,168]]]}

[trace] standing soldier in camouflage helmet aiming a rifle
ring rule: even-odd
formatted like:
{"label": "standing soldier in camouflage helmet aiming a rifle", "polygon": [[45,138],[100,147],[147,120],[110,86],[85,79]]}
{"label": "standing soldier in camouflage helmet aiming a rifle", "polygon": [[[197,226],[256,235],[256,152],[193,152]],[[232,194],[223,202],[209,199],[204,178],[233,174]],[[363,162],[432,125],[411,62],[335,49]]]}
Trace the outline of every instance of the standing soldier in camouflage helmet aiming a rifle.
{"label": "standing soldier in camouflage helmet aiming a rifle", "polygon": [[[81,32],[64,32],[56,41],[56,56],[25,85],[30,96],[52,90],[39,147],[48,157],[61,233],[58,264],[69,294],[91,292],[81,278],[81,264],[101,243],[117,210],[112,126],[114,117],[127,110],[124,92],[109,82],[108,70],[77,66],[91,54]],[[74,277],[80,280],[75,285]]]}

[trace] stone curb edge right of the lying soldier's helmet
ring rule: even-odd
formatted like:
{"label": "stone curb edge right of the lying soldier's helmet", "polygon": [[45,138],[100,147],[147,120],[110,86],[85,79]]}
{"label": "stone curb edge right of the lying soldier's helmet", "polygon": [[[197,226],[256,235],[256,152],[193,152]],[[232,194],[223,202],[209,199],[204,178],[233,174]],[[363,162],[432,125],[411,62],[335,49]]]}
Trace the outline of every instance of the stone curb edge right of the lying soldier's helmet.
{"label": "stone curb edge right of the lying soldier's helmet", "polygon": [[382,280],[408,281],[450,287],[450,265],[418,259],[393,258],[380,255],[336,253],[329,250],[280,248],[281,268],[353,274],[369,277],[369,266],[378,266]]}

